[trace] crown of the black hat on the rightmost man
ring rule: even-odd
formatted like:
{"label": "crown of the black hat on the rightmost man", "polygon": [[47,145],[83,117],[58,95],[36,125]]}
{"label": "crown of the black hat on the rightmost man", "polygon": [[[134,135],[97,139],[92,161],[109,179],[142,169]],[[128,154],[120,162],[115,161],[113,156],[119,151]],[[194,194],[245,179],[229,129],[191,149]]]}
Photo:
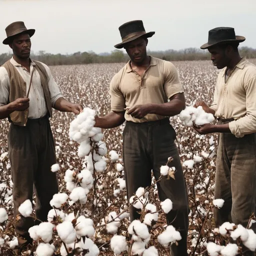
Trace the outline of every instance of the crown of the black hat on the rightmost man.
{"label": "crown of the black hat on the rightmost man", "polygon": [[208,32],[208,43],[216,43],[223,40],[235,40],[233,27],[215,27]]}

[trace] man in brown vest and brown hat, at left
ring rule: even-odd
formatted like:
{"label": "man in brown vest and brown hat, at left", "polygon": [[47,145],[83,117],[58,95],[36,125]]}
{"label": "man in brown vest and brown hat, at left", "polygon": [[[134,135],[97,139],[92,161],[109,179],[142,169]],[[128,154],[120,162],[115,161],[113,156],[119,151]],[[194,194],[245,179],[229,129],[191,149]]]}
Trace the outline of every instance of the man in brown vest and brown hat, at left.
{"label": "man in brown vest and brown hat, at left", "polygon": [[[14,217],[26,199],[32,202],[33,185],[36,194],[36,217],[47,220],[49,201],[58,192],[55,172],[55,145],[48,118],[52,107],[78,114],[81,104],[66,101],[45,64],[29,58],[34,29],[26,29],[22,21],[9,24],[7,38],[13,56],[0,67],[0,119],[11,122],[8,131],[8,153],[13,181]],[[28,228],[34,224],[30,217],[21,217],[15,224],[18,244],[31,243]]]}

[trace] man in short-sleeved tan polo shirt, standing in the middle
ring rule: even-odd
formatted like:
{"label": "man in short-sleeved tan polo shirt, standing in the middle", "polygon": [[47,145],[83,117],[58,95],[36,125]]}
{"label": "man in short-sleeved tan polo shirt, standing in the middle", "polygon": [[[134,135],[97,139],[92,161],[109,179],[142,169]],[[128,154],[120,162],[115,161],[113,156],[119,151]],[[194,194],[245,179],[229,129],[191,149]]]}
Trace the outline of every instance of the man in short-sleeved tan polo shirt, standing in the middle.
{"label": "man in short-sleeved tan polo shirt, standing in the middle", "polygon": [[[112,128],[126,120],[123,162],[127,198],[138,187],[151,185],[151,170],[157,180],[160,166],[166,164],[169,156],[173,157],[170,164],[176,169],[175,179],[164,178],[157,183],[157,188],[160,200],[169,198],[173,202],[173,209],[166,216],[167,222],[182,236],[178,246],[172,246],[172,255],[187,255],[188,199],[174,143],[176,134],[168,118],[184,109],[183,88],[172,63],[147,55],[147,38],[154,32],[146,33],[141,20],[124,23],[119,31],[122,42],[115,47],[124,47],[130,61],[112,78],[111,112],[103,117],[96,116],[95,126]],[[139,214],[132,207],[130,220],[137,218]]]}

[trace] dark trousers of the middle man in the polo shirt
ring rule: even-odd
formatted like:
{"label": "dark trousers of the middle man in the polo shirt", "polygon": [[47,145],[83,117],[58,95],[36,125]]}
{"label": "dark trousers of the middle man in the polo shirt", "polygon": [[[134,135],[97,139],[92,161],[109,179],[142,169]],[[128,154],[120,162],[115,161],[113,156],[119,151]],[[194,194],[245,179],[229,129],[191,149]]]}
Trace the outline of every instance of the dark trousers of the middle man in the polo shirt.
{"label": "dark trousers of the middle man in the polo shirt", "polygon": [[[166,164],[169,156],[173,157],[170,165],[176,169],[175,179],[162,179],[157,183],[157,189],[161,201],[169,198],[173,202],[173,209],[166,214],[167,223],[178,229],[182,236],[178,246],[171,247],[171,255],[186,256],[188,198],[180,157],[174,143],[175,136],[175,130],[169,124],[168,118],[144,123],[128,121],[123,131],[123,162],[129,199],[138,187],[151,185],[151,170],[157,180],[160,166]],[[139,213],[132,206],[130,220],[139,217]]]}

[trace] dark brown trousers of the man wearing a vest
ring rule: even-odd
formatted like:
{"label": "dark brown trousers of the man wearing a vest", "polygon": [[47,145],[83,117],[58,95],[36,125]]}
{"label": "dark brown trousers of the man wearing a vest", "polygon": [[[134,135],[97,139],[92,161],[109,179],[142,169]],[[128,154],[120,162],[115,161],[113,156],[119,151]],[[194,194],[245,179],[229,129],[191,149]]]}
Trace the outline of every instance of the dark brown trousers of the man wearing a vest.
{"label": "dark brown trousers of the man wearing a vest", "polygon": [[[19,214],[18,207],[23,201],[30,199],[32,202],[34,191],[36,217],[46,221],[51,209],[49,201],[58,192],[56,174],[50,171],[56,156],[48,118],[28,119],[26,126],[11,123],[8,152],[13,182],[13,216]],[[28,228],[34,224],[37,223],[31,217],[21,217],[14,224],[19,245],[30,240]]]}

